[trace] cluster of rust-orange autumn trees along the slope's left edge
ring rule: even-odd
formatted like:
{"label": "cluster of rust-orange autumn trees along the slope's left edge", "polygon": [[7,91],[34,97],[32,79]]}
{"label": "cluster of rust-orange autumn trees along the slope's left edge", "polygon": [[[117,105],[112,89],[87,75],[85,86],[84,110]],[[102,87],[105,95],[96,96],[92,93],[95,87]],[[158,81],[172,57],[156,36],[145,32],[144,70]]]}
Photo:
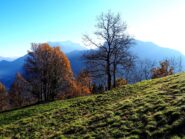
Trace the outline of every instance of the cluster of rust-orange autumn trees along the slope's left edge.
{"label": "cluster of rust-orange autumn trees along the slope's left edge", "polygon": [[9,91],[0,84],[0,110],[91,93],[89,73],[82,71],[75,77],[68,58],[59,47],[32,44],[24,71],[24,75],[16,75]]}

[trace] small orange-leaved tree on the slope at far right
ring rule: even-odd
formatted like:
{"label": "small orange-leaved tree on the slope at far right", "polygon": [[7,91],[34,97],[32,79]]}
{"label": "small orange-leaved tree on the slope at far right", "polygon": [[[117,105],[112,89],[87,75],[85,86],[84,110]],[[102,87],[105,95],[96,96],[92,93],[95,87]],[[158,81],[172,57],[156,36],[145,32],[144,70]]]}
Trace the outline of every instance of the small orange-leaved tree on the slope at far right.
{"label": "small orange-leaved tree on the slope at far right", "polygon": [[169,61],[165,60],[160,62],[159,68],[152,69],[152,79],[161,78],[173,74],[173,67],[170,67]]}

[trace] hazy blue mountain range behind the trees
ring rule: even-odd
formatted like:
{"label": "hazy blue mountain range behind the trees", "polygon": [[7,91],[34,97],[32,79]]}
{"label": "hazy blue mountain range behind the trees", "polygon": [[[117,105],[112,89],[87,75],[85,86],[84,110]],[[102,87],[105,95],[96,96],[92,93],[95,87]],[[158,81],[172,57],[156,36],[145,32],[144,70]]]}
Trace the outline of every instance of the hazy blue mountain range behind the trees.
{"label": "hazy blue mountain range behind the trees", "polygon": [[[74,74],[78,74],[84,68],[82,55],[88,50],[80,44],[71,41],[66,42],[48,42],[51,46],[60,46],[61,50],[67,55],[71,62]],[[164,58],[181,57],[185,65],[185,56],[174,49],[160,47],[152,42],[143,42],[136,40],[131,52],[140,59],[163,60]],[[9,88],[15,79],[17,72],[23,72],[23,65],[27,55],[17,58],[13,61],[8,59],[0,60],[0,81]],[[184,66],[185,67],[185,66]]]}

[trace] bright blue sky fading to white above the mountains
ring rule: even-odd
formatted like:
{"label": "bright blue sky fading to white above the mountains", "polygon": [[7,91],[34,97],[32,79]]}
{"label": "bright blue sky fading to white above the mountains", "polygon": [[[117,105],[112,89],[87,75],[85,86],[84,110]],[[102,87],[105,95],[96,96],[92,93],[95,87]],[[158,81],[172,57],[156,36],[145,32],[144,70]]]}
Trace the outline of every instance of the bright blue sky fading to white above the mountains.
{"label": "bright blue sky fading to white above the mountains", "polygon": [[108,10],[121,14],[135,39],[185,54],[185,0],[0,0],[0,56],[23,56],[31,43],[83,44]]}

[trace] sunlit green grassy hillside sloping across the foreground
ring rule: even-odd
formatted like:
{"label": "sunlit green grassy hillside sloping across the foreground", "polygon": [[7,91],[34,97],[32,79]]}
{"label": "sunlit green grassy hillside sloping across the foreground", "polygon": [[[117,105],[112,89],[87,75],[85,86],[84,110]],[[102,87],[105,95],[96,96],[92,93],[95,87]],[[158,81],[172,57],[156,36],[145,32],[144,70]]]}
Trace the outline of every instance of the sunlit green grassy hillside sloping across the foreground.
{"label": "sunlit green grassy hillside sloping across the foreground", "polygon": [[185,74],[0,114],[2,138],[180,138]]}

